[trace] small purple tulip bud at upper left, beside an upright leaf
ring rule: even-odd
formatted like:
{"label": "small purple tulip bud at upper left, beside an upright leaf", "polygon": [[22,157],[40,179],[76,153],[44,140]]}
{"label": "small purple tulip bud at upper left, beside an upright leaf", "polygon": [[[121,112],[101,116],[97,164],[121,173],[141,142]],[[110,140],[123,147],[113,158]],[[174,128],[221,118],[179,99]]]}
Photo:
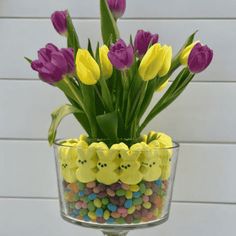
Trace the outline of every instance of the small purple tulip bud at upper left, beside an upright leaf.
{"label": "small purple tulip bud at upper left, beside an upright leaf", "polygon": [[55,11],[51,15],[51,21],[55,30],[64,36],[67,35],[67,15],[67,11]]}

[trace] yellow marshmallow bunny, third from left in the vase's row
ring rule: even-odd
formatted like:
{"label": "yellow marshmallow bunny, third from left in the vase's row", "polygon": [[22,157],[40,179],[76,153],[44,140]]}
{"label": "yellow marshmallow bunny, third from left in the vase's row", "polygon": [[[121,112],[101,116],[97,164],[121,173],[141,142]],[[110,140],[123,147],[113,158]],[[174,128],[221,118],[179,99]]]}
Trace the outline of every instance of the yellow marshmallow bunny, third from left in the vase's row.
{"label": "yellow marshmallow bunny, third from left in the vase's row", "polygon": [[98,163],[97,181],[110,185],[119,180],[119,151],[116,148],[108,148],[103,142],[96,146]]}

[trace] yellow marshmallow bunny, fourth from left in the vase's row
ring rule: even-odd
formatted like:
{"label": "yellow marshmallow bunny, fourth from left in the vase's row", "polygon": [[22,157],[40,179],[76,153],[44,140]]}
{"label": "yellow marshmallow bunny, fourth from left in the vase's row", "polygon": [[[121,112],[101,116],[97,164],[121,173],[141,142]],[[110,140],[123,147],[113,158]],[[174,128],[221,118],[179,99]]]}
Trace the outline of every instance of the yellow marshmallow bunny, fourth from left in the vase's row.
{"label": "yellow marshmallow bunny, fourth from left in the vase's row", "polygon": [[121,150],[121,174],[120,180],[125,184],[137,184],[139,183],[143,175],[140,172],[140,155],[142,153],[142,144],[137,143],[130,147],[130,150]]}

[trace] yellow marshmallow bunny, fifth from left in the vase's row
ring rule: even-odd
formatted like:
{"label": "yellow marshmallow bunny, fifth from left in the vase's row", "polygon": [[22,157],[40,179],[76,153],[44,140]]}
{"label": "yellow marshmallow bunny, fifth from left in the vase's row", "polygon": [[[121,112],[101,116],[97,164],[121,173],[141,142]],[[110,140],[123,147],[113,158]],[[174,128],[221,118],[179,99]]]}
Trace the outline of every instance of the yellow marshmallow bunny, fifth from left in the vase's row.
{"label": "yellow marshmallow bunny, fifth from left in the vase's row", "polygon": [[143,179],[146,181],[155,181],[161,177],[161,159],[158,156],[156,145],[156,140],[148,145],[143,143],[141,172],[143,173]]}

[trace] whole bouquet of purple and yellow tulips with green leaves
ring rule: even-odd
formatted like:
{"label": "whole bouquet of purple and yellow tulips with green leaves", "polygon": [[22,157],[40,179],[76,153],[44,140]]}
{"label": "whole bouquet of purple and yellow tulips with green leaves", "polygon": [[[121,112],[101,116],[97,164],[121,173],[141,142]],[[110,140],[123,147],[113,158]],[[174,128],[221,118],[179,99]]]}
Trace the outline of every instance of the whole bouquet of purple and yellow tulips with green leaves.
{"label": "whole bouquet of purple and yellow tulips with green leaves", "polygon": [[[67,48],[49,43],[30,60],[39,78],[60,89],[69,104],[52,113],[48,140],[52,144],[61,120],[74,114],[91,139],[138,140],[148,123],[169,106],[197,74],[205,70],[213,51],[190,35],[179,52],[161,45],[159,35],[139,30],[127,43],[120,38],[118,19],[125,0],[100,0],[103,44],[96,48],[88,40],[83,48],[68,11],[57,11],[51,20],[56,31],[67,39]],[[168,89],[146,114],[155,93]],[[144,117],[144,115],[146,115]]]}

